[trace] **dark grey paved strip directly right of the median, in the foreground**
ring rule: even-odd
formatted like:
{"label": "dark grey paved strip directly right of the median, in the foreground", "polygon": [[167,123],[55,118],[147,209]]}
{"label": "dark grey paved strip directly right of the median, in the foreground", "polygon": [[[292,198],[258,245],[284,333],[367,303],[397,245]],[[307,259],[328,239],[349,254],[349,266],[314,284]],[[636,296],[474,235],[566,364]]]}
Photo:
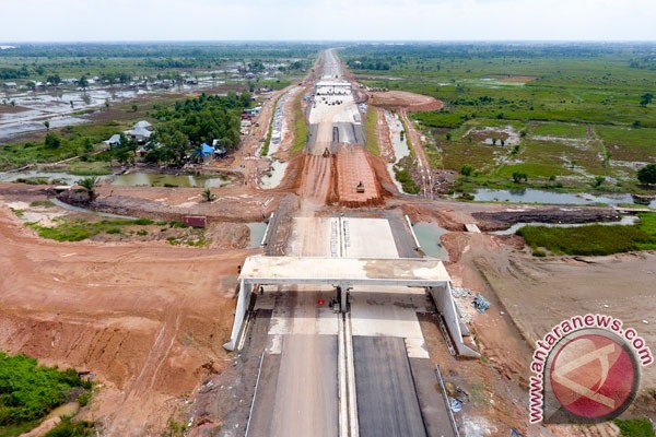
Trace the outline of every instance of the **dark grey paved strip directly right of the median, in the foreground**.
{"label": "dark grey paved strip directly right of the median, in the foreground", "polygon": [[353,336],[360,437],[424,437],[403,339]]}

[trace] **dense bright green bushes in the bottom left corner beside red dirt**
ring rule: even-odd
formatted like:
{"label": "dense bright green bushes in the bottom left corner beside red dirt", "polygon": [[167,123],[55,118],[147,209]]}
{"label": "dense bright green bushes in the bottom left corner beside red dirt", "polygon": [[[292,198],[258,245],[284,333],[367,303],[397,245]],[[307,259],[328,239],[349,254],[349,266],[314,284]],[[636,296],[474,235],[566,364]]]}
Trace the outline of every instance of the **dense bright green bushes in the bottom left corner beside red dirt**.
{"label": "dense bright green bushes in the bottom left corner beside red dirt", "polygon": [[[74,387],[91,388],[78,371],[38,366],[25,355],[0,352],[0,427],[44,417],[63,403]],[[0,428],[1,429],[1,428]]]}

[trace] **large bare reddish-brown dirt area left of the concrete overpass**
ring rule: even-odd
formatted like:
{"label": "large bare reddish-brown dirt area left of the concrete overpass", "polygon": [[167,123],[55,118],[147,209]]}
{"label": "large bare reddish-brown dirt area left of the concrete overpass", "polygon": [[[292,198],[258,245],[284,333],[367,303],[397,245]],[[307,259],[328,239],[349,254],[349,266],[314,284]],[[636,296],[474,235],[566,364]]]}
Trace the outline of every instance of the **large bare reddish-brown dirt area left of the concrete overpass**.
{"label": "large bare reddish-brown dirt area left of the concrete overpass", "polygon": [[0,240],[0,349],[94,373],[82,415],[105,435],[159,435],[171,400],[227,365],[246,250],[43,240],[7,206]]}

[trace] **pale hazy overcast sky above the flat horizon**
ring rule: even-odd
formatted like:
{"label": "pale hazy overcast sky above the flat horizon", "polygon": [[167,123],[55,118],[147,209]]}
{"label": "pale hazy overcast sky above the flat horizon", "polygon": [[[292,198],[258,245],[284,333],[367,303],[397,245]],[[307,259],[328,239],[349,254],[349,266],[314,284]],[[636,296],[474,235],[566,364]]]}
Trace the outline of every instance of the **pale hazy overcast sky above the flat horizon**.
{"label": "pale hazy overcast sky above the flat horizon", "polygon": [[1,0],[0,43],[656,40],[656,0]]}

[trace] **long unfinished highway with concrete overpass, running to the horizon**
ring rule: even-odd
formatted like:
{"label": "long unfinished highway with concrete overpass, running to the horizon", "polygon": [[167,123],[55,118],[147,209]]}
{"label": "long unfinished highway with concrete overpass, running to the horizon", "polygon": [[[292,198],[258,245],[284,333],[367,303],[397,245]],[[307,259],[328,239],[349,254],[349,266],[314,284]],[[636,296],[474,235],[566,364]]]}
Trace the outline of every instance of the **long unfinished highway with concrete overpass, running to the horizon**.
{"label": "long unfinished highway with concrete overpass, running to the horizon", "polygon": [[407,217],[363,217],[356,208],[321,214],[331,189],[321,179],[335,173],[351,206],[380,193],[364,160],[362,114],[333,50],[324,55],[311,103],[311,168],[285,256],[250,257],[238,279],[225,347],[261,351],[244,433],[455,436],[418,320],[437,310],[454,350],[477,356],[462,341],[448,273],[422,257]]}

